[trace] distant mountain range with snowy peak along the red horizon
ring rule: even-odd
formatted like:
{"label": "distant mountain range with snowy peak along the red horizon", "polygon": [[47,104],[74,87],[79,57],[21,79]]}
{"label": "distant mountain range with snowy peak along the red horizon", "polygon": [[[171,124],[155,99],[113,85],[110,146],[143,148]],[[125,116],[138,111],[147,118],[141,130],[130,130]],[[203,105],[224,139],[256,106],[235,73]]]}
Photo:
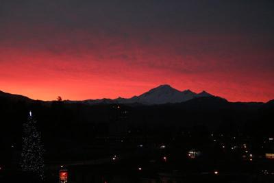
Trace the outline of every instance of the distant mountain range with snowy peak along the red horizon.
{"label": "distant mountain range with snowy peak along the red horizon", "polygon": [[[0,90],[0,97],[9,97],[14,100],[23,99],[25,101],[42,101],[42,100],[30,99],[29,97],[25,97],[23,95],[5,93],[1,90]],[[64,102],[65,103],[84,103],[86,105],[120,103],[120,104],[140,104],[140,105],[152,106],[152,105],[162,105],[162,104],[168,104],[168,103],[184,103],[192,99],[204,98],[204,97],[213,97],[213,98],[217,97],[217,98],[224,99],[222,97],[218,97],[210,93],[207,93],[205,90],[203,90],[201,93],[195,93],[189,89],[180,91],[180,90],[177,90],[176,88],[173,88],[169,84],[162,84],[155,88],[151,88],[145,93],[142,93],[140,95],[134,95],[133,97],[130,97],[130,98],[118,97],[116,99],[103,98],[103,99],[85,99],[85,100],[78,100],[78,101],[64,100]],[[51,102],[51,101],[45,101],[45,102]],[[270,100],[269,102],[273,103],[273,100]],[[232,102],[232,103],[237,103],[237,102]],[[262,102],[238,102],[238,103],[262,103]]]}

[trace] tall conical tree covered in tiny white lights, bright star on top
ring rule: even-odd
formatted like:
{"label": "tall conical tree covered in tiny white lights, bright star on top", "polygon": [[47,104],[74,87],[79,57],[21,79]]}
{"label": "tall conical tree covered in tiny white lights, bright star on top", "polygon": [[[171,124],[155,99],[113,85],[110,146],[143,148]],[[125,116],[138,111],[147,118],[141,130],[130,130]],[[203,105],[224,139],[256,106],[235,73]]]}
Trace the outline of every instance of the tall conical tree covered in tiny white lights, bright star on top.
{"label": "tall conical tree covered in tiny white lights, bright star on top", "polygon": [[23,124],[22,170],[38,175],[43,180],[45,167],[43,154],[41,134],[36,127],[32,112],[29,112],[27,122]]}

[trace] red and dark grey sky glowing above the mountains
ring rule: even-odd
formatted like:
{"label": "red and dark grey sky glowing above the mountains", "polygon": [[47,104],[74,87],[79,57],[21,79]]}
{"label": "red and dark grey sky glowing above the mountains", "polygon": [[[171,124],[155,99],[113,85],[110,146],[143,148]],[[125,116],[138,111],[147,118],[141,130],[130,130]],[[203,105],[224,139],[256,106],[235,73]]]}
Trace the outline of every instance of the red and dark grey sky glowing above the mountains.
{"label": "red and dark grey sky glowing above the mountains", "polygon": [[0,90],[132,97],[160,84],[274,99],[274,1],[0,0]]}

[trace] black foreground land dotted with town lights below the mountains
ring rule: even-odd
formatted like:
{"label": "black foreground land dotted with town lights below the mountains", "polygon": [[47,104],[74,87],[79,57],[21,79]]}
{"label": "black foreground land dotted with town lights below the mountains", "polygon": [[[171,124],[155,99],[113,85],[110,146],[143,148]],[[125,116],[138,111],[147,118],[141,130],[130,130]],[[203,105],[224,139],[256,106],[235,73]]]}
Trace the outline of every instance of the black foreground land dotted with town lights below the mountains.
{"label": "black foreground land dotted with town lights below the mountains", "polygon": [[0,95],[0,182],[39,182],[20,169],[32,110],[45,181],[274,182],[274,108],[201,97],[184,103],[67,103]]}

